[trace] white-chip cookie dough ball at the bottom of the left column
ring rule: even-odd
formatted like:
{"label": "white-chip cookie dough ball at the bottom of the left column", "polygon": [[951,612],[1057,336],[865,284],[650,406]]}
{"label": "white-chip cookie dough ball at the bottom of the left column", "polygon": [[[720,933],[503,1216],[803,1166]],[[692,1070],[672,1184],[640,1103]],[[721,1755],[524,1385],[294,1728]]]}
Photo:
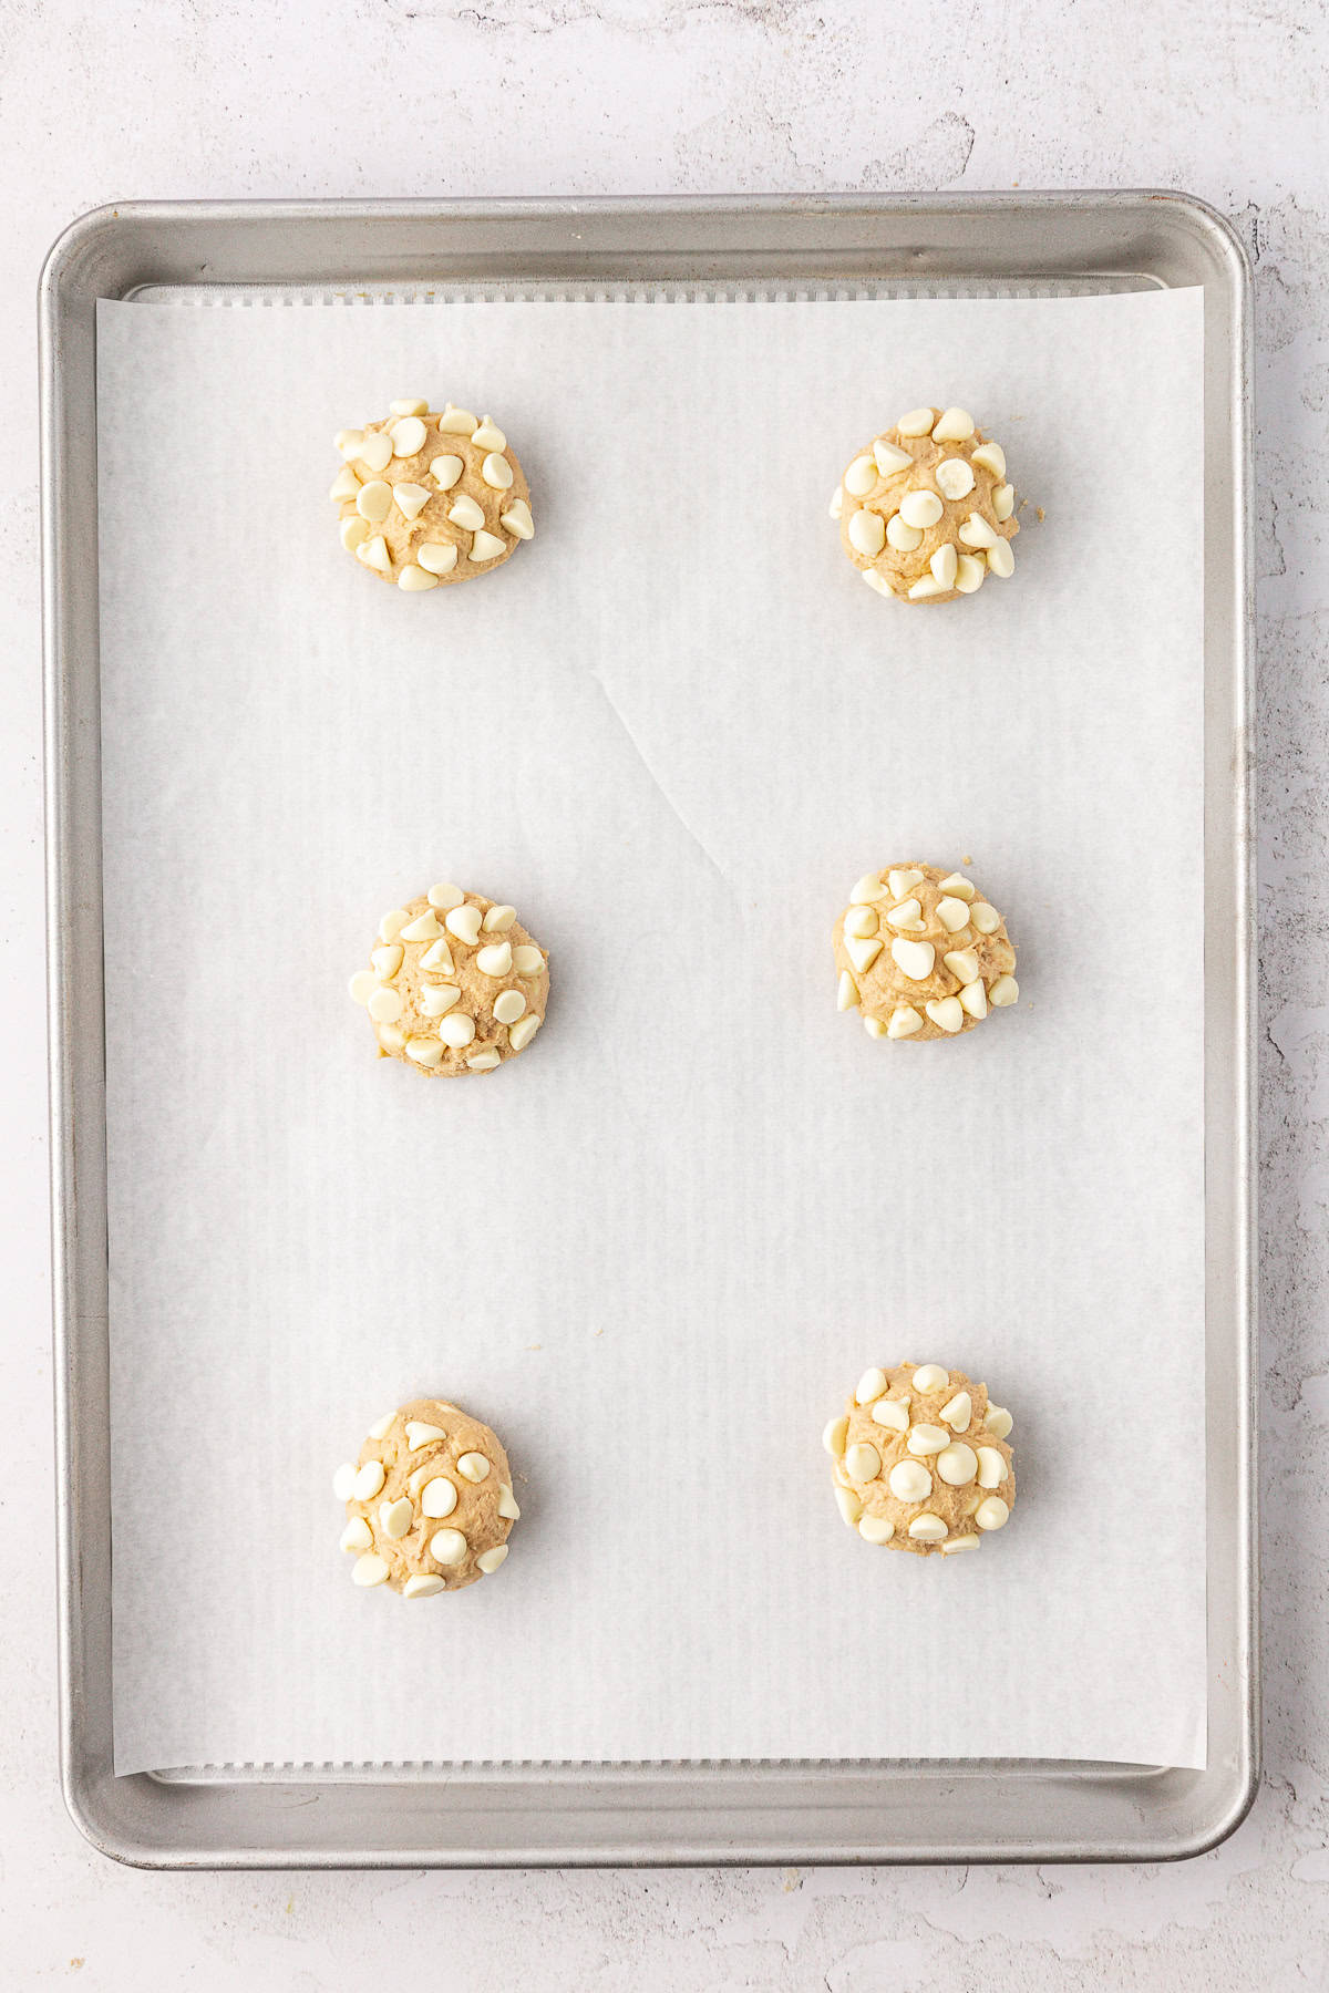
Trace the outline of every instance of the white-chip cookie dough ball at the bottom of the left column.
{"label": "white-chip cookie dough ball at the bottom of the left column", "polygon": [[494,1433],[442,1397],[412,1397],[371,1425],[333,1493],[347,1505],[341,1549],[355,1557],[353,1582],[404,1598],[460,1592],[498,1570],[522,1513]]}

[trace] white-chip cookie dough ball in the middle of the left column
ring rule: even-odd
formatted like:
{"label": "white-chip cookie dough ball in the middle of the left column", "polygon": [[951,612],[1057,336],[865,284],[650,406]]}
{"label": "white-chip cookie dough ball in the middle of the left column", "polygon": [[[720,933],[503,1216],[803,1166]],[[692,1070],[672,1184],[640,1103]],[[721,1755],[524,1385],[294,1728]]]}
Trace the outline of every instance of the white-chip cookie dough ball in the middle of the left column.
{"label": "white-chip cookie dough ball in the middle of the left column", "polygon": [[516,907],[430,885],[383,915],[351,996],[369,1010],[379,1058],[430,1076],[492,1072],[540,1030],[550,967]]}

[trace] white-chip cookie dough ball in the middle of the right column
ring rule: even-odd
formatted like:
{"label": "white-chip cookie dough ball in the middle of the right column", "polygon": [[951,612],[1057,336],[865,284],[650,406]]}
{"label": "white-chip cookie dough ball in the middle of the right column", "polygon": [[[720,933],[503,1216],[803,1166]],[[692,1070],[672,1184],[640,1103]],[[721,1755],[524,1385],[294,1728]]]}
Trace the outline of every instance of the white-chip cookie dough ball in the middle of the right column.
{"label": "white-chip cookie dough ball in the middle of the right column", "polygon": [[938,865],[867,873],[835,923],[839,1008],[873,1038],[956,1038],[1020,996],[1006,923]]}

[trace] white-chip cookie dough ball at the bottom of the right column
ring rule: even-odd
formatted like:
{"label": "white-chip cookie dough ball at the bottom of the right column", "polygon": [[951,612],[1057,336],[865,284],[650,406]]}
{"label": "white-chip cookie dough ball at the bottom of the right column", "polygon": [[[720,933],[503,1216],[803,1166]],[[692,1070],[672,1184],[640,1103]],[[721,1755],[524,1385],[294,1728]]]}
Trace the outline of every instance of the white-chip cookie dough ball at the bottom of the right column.
{"label": "white-chip cookie dough ball at the bottom of the right column", "polygon": [[1006,1433],[988,1387],[940,1363],[869,1369],[823,1433],[839,1513],[865,1543],[929,1557],[976,1551],[1016,1499]]}

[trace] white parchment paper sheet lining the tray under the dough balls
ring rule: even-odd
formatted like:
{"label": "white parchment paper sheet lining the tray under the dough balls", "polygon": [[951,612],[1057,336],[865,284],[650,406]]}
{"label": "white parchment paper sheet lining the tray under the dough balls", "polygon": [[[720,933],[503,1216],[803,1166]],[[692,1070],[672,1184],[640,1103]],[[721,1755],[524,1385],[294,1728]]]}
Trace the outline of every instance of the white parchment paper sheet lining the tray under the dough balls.
{"label": "white parchment paper sheet lining the tray under the dough balls", "polygon": [[[118,1770],[1203,1764],[1199,339],[1197,291],[100,307]],[[327,438],[412,393],[532,478],[484,590],[337,548]],[[1048,520],[911,614],[825,498],[952,393]],[[837,905],[964,853],[1026,1002],[871,1044]],[[460,1088],[345,998],[440,875],[556,971]],[[978,1559],[835,1515],[897,1355],[1016,1413]],[[406,1614],[327,1477],[418,1389],[524,1519]]]}

